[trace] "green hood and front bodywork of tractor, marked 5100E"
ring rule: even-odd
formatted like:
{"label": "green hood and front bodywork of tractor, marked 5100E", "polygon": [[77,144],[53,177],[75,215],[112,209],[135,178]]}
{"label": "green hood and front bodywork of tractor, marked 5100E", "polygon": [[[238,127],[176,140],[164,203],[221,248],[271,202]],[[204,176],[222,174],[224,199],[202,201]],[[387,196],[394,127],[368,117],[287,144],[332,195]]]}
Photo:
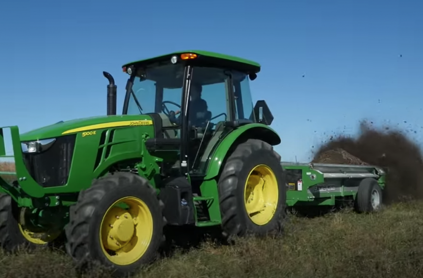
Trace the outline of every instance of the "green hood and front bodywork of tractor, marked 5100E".
{"label": "green hood and front bodywork of tractor, marked 5100E", "polygon": [[[135,126],[139,121],[152,121],[152,119],[148,115],[92,117],[57,123],[22,135],[19,134],[17,126],[10,126],[16,176],[20,188],[11,187],[3,179],[0,179],[0,190],[10,194],[21,206],[36,206],[32,201],[40,201],[39,199],[42,199],[42,203],[47,202],[52,206],[59,204],[69,205],[76,201],[75,196],[69,195],[67,198],[65,197],[65,200],[61,197],[59,198],[60,202],[57,202],[56,196],[65,193],[78,193],[80,190],[88,188],[92,179],[103,176],[107,173],[110,166],[121,161],[137,159],[140,162],[137,166],[142,168],[140,173],[145,177],[149,177],[154,170],[158,171],[159,166],[156,162],[162,159],[151,156],[143,147],[143,140],[154,134],[154,127],[153,125]],[[105,130],[114,130],[114,140],[112,143],[108,143],[105,140],[104,144],[100,144],[102,133]],[[42,187],[35,182],[26,169],[22,156],[21,142],[57,138],[68,134],[76,134],[68,182],[63,186]],[[105,157],[108,145],[111,145],[112,148],[110,148],[108,156]],[[103,159],[96,165],[99,150]],[[155,186],[154,179],[152,183]],[[44,198],[45,196],[48,197]]]}

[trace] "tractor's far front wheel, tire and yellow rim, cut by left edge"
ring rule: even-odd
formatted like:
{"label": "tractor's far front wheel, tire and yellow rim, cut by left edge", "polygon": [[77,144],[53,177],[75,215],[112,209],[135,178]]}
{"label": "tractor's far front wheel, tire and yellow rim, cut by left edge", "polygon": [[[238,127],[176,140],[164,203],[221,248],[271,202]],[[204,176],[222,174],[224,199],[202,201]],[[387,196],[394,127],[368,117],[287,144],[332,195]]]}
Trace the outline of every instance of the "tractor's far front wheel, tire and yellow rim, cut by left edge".
{"label": "tractor's far front wheel, tire and yellow rim, cut by left edge", "polygon": [[61,235],[61,230],[37,227],[33,223],[35,217],[29,208],[18,207],[9,195],[0,194],[0,246],[13,252],[19,246],[52,245]]}

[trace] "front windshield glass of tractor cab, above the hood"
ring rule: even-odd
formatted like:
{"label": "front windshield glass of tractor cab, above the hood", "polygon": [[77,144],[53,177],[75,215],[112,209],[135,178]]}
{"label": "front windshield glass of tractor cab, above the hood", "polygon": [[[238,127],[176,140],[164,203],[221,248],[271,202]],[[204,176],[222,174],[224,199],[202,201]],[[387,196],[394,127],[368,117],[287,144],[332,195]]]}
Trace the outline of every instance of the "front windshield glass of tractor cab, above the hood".
{"label": "front windshield glass of tractor cab, above the hood", "polygon": [[163,101],[168,110],[181,110],[184,69],[182,64],[155,65],[138,69],[133,80],[133,94],[128,102],[127,114],[163,113]]}

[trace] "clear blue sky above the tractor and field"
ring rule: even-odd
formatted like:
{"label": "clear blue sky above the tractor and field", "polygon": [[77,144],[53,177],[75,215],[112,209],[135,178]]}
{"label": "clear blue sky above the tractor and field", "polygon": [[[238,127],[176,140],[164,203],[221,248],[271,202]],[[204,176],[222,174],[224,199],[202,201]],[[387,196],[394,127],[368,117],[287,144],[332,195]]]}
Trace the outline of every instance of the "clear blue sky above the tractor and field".
{"label": "clear blue sky above the tractor and field", "polygon": [[201,49],[261,63],[252,97],[273,111],[285,161],[309,161],[363,118],[421,143],[422,11],[421,0],[1,1],[0,126],[106,114],[102,71],[121,112],[122,64]]}

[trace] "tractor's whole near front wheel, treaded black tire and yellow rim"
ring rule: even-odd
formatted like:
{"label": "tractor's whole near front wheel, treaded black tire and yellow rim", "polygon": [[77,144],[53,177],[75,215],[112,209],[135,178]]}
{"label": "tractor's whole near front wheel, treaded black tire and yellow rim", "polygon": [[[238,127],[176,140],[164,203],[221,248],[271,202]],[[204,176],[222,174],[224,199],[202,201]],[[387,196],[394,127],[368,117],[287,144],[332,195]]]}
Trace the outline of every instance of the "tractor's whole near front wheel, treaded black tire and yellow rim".
{"label": "tractor's whole near front wheel, treaded black tire and yellow rim", "polygon": [[158,254],[166,222],[163,206],[148,180],[138,175],[95,179],[70,208],[66,250],[79,271],[99,261],[115,277],[130,275]]}

